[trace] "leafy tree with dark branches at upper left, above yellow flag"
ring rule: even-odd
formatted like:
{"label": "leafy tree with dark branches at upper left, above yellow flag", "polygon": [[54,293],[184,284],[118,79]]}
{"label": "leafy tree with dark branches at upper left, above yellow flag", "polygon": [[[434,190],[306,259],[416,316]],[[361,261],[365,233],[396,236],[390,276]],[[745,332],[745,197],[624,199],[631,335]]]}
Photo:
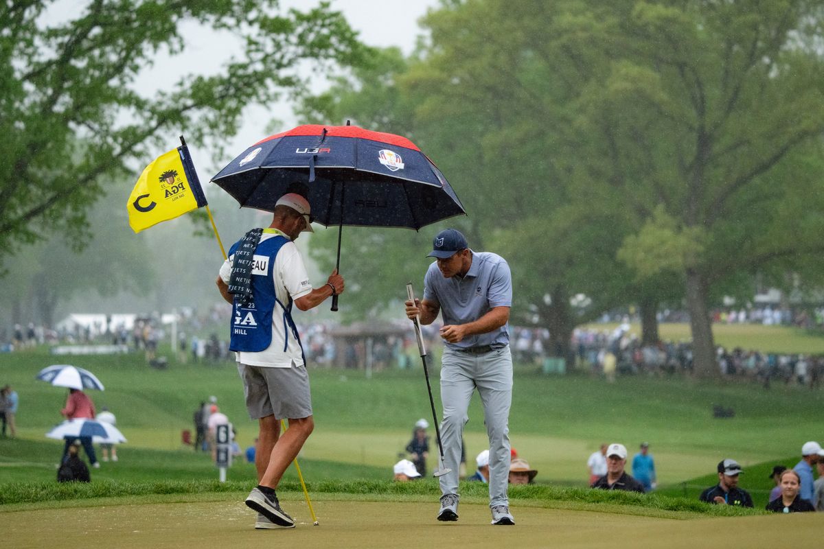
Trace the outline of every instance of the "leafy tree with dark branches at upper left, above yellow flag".
{"label": "leafy tree with dark branches at upper left, above yellow flag", "polygon": [[[51,3],[0,5],[0,260],[43,230],[82,242],[111,174],[183,132],[219,148],[247,105],[302,90],[298,65],[328,72],[363,54],[328,2],[279,15],[276,0],[91,0],[47,25]],[[216,75],[169,75],[155,95],[138,94],[153,58],[183,52],[186,22],[231,33],[241,54]]]}

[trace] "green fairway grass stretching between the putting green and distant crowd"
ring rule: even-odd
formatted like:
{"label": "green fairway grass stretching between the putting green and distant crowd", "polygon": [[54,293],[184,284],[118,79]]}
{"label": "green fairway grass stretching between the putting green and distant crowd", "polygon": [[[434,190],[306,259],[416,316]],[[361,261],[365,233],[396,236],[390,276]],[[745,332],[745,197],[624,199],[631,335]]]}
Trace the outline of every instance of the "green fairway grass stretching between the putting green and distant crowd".
{"label": "green fairway grass stretching between the putting green and distant crowd", "polygon": [[[736,327],[741,328],[741,327]],[[748,328],[748,327],[743,327]],[[784,328],[770,328],[784,333]],[[60,421],[66,391],[35,380],[35,374],[56,357],[42,350],[0,356],[4,382],[21,398],[17,440],[0,440],[0,485],[8,482],[52,482],[63,443],[44,433]],[[181,430],[191,430],[199,402],[215,395],[221,411],[238,430],[241,449],[252,443],[255,421],[246,415],[241,381],[232,364],[180,365],[152,370],[138,355],[78,356],[72,361],[95,372],[105,392],[91,392],[98,407],[107,405],[129,439],[119,447],[119,463],[92,470],[93,482],[205,481],[218,476],[207,455],[184,447]],[[310,484],[327,480],[386,480],[391,466],[409,442],[414,421],[431,422],[423,370],[374,372],[312,369],[310,373],[316,429],[300,455]],[[438,379],[438,369],[433,369]],[[436,402],[438,383],[433,383]],[[736,416],[714,419],[714,404],[732,407]],[[440,412],[440,406],[438,412]],[[675,376],[621,376],[615,384],[572,373],[543,375],[534,365],[516,365],[509,437],[518,454],[536,468],[536,482],[552,486],[585,486],[586,460],[599,443],[621,442],[631,456],[648,441],[655,457],[658,485],[668,494],[692,497],[691,482],[715,470],[723,458],[746,468],[763,463],[792,466],[806,440],[822,440],[819,411],[824,392],[774,384],[713,383]],[[467,473],[475,454],[486,447],[483,412],[477,396],[466,425]],[[791,425],[792,429],[787,426]],[[437,460],[430,428],[428,468]],[[629,463],[628,463],[629,468]],[[236,463],[230,481],[254,479],[254,467]],[[761,478],[763,477],[763,478]],[[297,480],[294,468],[286,479]],[[703,483],[703,481],[701,481]],[[695,483],[695,482],[693,482]],[[708,485],[709,486],[709,485]],[[747,490],[766,491],[761,473],[742,478]]]}

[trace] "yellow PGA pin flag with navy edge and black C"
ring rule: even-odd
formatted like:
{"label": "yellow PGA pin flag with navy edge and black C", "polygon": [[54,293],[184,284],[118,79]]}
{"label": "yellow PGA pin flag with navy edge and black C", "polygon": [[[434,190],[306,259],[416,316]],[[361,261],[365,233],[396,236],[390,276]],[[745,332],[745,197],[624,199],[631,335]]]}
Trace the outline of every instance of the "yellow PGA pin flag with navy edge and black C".
{"label": "yellow PGA pin flag with navy edge and black C", "polygon": [[126,210],[129,226],[138,233],[206,205],[189,147],[184,144],[146,166],[134,185]]}

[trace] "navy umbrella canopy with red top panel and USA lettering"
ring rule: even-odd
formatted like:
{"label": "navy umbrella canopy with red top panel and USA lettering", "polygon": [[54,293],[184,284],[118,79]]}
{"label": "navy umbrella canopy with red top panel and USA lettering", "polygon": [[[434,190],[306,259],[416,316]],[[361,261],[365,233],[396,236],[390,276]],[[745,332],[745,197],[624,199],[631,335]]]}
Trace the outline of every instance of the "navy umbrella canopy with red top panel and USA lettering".
{"label": "navy umbrella canopy with red top panel and USA lettering", "polygon": [[242,207],[267,212],[296,182],[308,182],[324,226],[418,230],[466,214],[440,170],[409,139],[357,126],[309,124],[266,137],[212,178]]}

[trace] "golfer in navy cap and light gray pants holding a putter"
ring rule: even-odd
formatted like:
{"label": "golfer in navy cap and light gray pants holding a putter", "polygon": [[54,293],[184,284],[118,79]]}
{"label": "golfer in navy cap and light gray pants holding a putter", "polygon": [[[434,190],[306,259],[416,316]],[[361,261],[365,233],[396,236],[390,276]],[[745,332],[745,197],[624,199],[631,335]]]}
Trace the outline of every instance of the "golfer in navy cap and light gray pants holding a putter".
{"label": "golfer in navy cap and light gray pants holding a putter", "polygon": [[509,407],[513,362],[507,323],[512,306],[512,277],[496,254],[473,252],[464,235],[442,230],[433,240],[436,258],[424,277],[424,299],[406,301],[406,316],[431,324],[443,314],[441,427],[443,464],[452,469],[440,477],[438,520],[458,519],[458,466],[466,410],[478,388],[489,435],[489,507],[493,524],[514,524],[509,513]]}

